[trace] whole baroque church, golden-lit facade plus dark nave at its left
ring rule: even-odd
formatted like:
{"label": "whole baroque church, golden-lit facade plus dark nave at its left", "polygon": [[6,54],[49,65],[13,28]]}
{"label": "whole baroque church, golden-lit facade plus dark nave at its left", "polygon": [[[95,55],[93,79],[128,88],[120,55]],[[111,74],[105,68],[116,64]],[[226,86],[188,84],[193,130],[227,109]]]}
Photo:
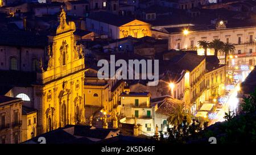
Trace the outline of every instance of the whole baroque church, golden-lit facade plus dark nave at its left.
{"label": "whole baroque church, golden-lit facade plus dark nave at its left", "polygon": [[[0,43],[1,78],[6,74],[6,79],[2,80],[5,82],[0,84],[7,87],[7,93],[3,95],[23,98],[24,106],[37,110],[36,135],[67,124],[85,122],[84,54],[73,35],[75,23],[66,22],[63,9],[58,20],[55,31],[44,35],[45,44],[39,41],[41,36],[38,34],[34,40],[28,37],[31,43],[26,43],[26,37],[20,36],[25,43],[19,46],[16,45],[18,42],[6,45],[3,40]],[[28,35],[30,32],[26,32]],[[10,72],[11,77],[8,77]],[[30,78],[31,75],[34,77]],[[8,79],[12,80],[9,82]]]}

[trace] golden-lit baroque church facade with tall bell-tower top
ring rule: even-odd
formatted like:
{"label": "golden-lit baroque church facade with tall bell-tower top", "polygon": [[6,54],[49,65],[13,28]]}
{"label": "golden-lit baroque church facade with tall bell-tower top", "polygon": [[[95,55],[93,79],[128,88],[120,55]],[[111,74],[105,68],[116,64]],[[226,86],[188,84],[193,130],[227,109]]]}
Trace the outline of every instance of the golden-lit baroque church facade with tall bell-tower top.
{"label": "golden-lit baroque church facade with tall bell-tower top", "polygon": [[63,9],[59,21],[56,35],[49,36],[47,69],[37,75],[42,83],[36,86],[42,102],[36,103],[43,132],[85,120],[84,58],[73,35],[75,23],[66,22]]}

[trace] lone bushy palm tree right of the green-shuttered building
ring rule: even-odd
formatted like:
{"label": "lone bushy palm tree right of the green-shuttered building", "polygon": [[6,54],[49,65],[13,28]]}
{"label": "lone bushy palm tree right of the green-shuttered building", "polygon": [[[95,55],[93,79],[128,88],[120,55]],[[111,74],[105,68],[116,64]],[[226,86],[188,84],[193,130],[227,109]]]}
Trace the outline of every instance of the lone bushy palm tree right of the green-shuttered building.
{"label": "lone bushy palm tree right of the green-shuttered building", "polygon": [[[170,102],[170,100],[167,100],[167,102]],[[191,116],[185,112],[185,103],[171,103],[171,114],[167,118],[167,122],[171,125],[174,125],[174,127],[177,127],[178,125],[183,123],[184,118],[187,118],[187,122],[191,123]]]}

